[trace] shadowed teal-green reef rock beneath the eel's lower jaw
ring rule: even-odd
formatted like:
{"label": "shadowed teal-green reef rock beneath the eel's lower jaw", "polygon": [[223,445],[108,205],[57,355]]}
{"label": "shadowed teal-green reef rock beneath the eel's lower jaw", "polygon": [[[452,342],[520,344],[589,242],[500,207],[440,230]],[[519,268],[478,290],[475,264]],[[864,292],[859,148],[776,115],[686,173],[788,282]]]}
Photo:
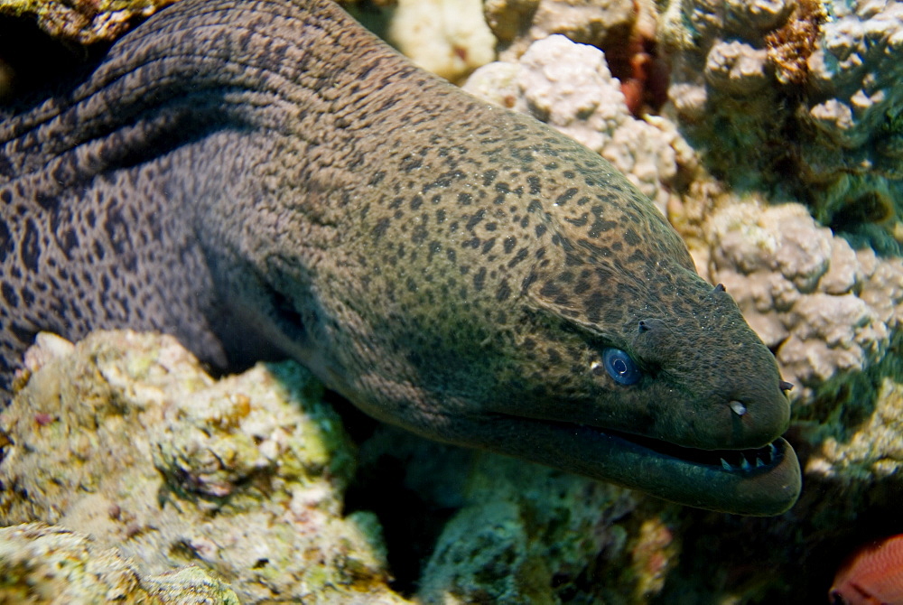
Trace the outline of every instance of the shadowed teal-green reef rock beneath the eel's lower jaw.
{"label": "shadowed teal-green reef rock beneath the eel's lower jaw", "polygon": [[362,477],[405,495],[380,518],[396,557],[415,554],[420,602],[646,603],[680,552],[681,507],[628,489],[386,425],[360,458]]}

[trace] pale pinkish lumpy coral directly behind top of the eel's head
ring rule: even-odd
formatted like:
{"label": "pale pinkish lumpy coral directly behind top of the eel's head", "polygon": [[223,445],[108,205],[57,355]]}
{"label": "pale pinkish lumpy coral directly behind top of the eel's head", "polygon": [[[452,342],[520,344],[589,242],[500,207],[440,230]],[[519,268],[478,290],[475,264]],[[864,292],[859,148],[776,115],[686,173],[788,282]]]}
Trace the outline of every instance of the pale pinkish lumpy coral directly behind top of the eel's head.
{"label": "pale pinkish lumpy coral directly behind top of the eel's head", "polygon": [[[464,86],[554,126],[598,152],[664,209],[664,186],[688,161],[683,141],[664,119],[634,118],[605,55],[560,35],[534,42],[517,63],[477,70]],[[692,157],[689,156],[689,157]]]}

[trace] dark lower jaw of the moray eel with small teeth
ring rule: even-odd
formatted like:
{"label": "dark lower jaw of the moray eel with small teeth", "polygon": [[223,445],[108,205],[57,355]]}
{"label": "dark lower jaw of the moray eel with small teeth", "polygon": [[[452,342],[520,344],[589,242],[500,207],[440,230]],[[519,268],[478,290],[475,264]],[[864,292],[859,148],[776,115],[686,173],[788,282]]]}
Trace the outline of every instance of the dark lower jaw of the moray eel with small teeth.
{"label": "dark lower jaw of the moray eel with small teeth", "polygon": [[[780,437],[755,450],[698,450],[593,426],[525,417],[495,416],[479,423],[484,425],[486,439],[472,445],[690,507],[773,516],[792,507],[801,489],[796,453]],[[489,425],[491,429],[486,428]],[[499,439],[499,434],[511,438]]]}

